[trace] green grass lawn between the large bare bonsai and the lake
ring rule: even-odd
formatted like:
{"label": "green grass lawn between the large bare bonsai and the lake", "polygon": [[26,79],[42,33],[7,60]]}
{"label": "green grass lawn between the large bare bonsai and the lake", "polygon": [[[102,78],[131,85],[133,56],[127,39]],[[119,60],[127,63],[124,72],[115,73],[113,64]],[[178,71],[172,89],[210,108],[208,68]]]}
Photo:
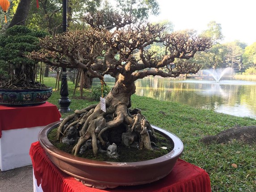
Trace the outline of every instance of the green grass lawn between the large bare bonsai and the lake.
{"label": "green grass lawn between the large bare bonsai and the lake", "polygon": [[[55,87],[53,78],[45,78],[44,83]],[[68,83],[70,108],[73,111],[97,103],[88,99],[81,100],[79,91],[73,96],[74,84]],[[89,97],[90,91],[84,90],[84,96]],[[54,91],[48,101],[59,106],[59,98],[59,91]],[[182,140],[184,151],[180,158],[207,171],[213,192],[256,192],[255,143],[248,145],[232,141],[227,144],[213,143],[206,146],[199,142],[206,135],[218,134],[235,125],[256,125],[255,119],[215,113],[212,110],[136,95],[132,96],[132,108],[141,109],[152,125],[167,129]],[[62,117],[68,114],[71,113],[63,113]],[[232,167],[232,163],[238,167]]]}

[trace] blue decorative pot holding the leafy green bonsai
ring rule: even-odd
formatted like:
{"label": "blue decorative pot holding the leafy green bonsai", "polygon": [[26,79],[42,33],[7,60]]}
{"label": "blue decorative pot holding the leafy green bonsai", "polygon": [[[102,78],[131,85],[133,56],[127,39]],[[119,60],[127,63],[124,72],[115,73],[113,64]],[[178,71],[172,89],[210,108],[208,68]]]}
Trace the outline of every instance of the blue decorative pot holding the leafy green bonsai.
{"label": "blue decorative pot holding the leafy green bonsai", "polygon": [[43,104],[49,99],[52,88],[46,89],[0,89],[0,104],[6,106],[29,106]]}

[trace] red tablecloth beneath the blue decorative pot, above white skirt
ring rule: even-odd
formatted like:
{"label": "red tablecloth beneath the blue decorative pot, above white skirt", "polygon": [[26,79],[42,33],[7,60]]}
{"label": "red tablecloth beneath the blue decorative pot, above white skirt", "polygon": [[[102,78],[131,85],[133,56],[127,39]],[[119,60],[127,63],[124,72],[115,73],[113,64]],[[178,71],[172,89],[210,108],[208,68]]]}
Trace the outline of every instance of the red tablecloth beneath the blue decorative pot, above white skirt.
{"label": "red tablecloth beneath the blue decorative pot, above white skirt", "polygon": [[49,102],[30,107],[0,105],[0,138],[2,130],[48,125],[59,121],[60,117],[61,114],[56,105]]}

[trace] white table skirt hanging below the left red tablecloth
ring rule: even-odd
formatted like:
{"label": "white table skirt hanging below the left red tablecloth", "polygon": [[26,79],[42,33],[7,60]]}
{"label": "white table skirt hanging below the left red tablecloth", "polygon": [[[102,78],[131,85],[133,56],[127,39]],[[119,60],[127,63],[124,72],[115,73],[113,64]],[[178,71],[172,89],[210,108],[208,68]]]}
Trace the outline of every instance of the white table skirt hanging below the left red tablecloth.
{"label": "white table skirt hanging below the left red tablecloth", "polygon": [[0,169],[7,171],[31,165],[29,149],[45,126],[3,130],[0,138]]}

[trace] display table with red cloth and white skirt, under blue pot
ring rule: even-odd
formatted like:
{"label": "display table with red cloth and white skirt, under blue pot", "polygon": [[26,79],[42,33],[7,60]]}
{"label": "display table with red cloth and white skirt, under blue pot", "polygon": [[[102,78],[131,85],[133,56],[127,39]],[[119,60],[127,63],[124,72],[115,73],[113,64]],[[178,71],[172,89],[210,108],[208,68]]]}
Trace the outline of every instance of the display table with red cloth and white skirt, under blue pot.
{"label": "display table with red cloth and white skirt, under blue pot", "polygon": [[59,121],[58,108],[49,102],[29,107],[0,105],[0,169],[31,165],[29,148],[46,125]]}

